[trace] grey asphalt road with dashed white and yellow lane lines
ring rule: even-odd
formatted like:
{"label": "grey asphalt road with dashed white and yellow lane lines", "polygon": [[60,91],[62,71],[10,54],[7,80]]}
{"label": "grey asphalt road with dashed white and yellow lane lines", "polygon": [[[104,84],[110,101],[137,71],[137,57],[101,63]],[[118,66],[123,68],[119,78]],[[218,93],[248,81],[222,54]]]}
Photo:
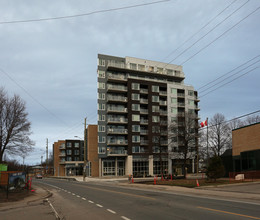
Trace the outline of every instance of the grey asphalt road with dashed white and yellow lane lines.
{"label": "grey asphalt road with dashed white and yellow lane lines", "polygon": [[260,219],[255,203],[119,187],[116,184],[43,179],[63,219]]}

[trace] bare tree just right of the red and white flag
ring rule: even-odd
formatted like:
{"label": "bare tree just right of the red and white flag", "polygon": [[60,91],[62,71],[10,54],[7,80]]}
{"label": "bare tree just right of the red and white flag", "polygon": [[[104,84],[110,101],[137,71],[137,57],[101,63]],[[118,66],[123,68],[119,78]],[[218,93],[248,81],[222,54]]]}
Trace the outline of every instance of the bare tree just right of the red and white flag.
{"label": "bare tree just right of the red and white flag", "polygon": [[215,156],[220,156],[231,148],[231,129],[225,116],[216,113],[209,122],[209,148]]}

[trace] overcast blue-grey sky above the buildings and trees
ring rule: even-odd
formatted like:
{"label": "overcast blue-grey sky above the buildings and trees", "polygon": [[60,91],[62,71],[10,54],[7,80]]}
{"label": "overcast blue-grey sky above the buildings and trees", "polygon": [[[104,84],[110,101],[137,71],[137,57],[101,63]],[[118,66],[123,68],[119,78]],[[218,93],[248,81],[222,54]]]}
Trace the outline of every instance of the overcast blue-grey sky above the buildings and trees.
{"label": "overcast blue-grey sky above the buildings and trees", "polygon": [[[151,2],[0,1],[0,86],[26,101],[36,142],[25,163],[45,159],[47,138],[49,150],[54,141],[83,138],[84,117],[88,124],[97,123],[98,53],[183,65],[185,84],[193,85],[201,96],[201,120],[215,113],[231,119],[260,109],[258,0],[146,4]],[[145,5],[126,8],[140,4]],[[8,23],[97,11],[103,12]],[[240,78],[205,95],[216,87],[206,91],[200,87],[223,74],[234,76],[219,79],[223,82],[216,87]]]}

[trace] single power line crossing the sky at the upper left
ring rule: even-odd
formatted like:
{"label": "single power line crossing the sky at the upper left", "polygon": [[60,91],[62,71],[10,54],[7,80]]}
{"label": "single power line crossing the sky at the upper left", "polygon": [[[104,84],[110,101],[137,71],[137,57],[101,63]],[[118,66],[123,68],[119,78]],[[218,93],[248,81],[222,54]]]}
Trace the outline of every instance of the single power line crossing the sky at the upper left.
{"label": "single power line crossing the sky at the upper left", "polygon": [[124,9],[129,9],[129,8],[143,7],[143,6],[147,6],[147,5],[159,4],[159,3],[168,2],[168,1],[171,1],[171,0],[161,0],[161,1],[138,4],[138,5],[130,5],[130,6],[124,6],[124,7],[118,7],[118,8],[103,9],[103,10],[92,11],[89,13],[76,14],[76,15],[29,19],[29,20],[2,21],[2,22],[0,22],[0,24],[15,24],[15,23],[29,23],[29,22],[40,22],[40,21],[50,21],[50,20],[59,20],[59,19],[70,19],[70,18],[89,16],[89,15],[93,15],[93,14],[99,14],[99,13],[105,13],[105,12],[111,12],[111,11],[119,11],[119,10],[124,10]]}

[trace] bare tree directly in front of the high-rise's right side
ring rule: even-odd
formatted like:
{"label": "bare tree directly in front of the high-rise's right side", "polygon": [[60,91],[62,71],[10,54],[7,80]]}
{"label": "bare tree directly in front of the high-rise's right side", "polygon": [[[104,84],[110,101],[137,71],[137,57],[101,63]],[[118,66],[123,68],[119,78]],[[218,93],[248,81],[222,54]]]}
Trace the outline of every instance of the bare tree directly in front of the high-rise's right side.
{"label": "bare tree directly in front of the high-rise's right side", "polygon": [[[177,141],[178,147],[173,148],[179,159],[183,160],[183,171],[186,177],[187,161],[195,159],[198,156],[197,137],[198,137],[198,123],[197,116],[194,113],[185,113],[182,121],[173,122],[169,125],[169,139],[170,144]],[[197,148],[197,149],[196,149]],[[197,153],[195,153],[197,151]]]}

